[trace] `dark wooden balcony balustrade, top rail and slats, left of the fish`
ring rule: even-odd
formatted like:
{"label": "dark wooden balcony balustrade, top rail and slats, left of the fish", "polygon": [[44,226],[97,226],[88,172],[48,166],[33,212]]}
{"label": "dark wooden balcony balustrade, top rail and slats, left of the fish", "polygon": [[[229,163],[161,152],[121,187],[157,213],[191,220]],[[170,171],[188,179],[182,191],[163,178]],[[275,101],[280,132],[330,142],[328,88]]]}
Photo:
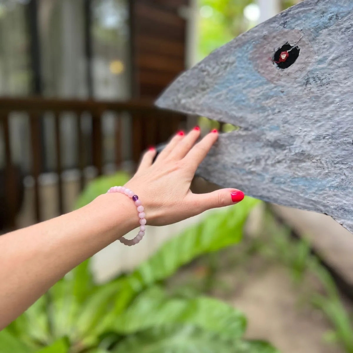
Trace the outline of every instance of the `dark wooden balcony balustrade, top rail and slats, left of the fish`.
{"label": "dark wooden balcony balustrade, top rail and slats, left of the fish", "polygon": [[[17,214],[19,213],[24,198],[23,178],[30,177],[32,182],[31,205],[32,222],[43,220],[43,197],[40,192],[40,176],[44,172],[55,173],[56,197],[50,202],[55,202],[58,214],[64,213],[65,195],[64,180],[62,175],[65,166],[62,163],[62,146],[65,144],[65,136],[60,133],[61,119],[65,114],[73,117],[76,127],[71,132],[75,142],[75,150],[70,153],[76,156],[77,163],[73,166],[78,170],[79,190],[87,183],[85,169],[95,170],[95,175],[104,172],[106,158],[104,157],[104,131],[102,121],[106,114],[114,120],[114,131],[110,131],[109,143],[113,143],[114,169],[122,168],[126,159],[136,165],[140,155],[149,145],[157,145],[166,141],[179,128],[185,127],[186,117],[184,115],[164,111],[153,106],[150,101],[130,100],[124,102],[108,101],[81,101],[81,100],[57,100],[43,98],[0,98],[0,144],[4,150],[4,167],[0,169],[0,230],[9,230],[19,227]],[[11,119],[17,115],[18,120],[28,127],[29,155],[28,170],[13,160],[13,147],[22,141],[12,140]],[[50,136],[54,141],[55,167],[45,170],[43,163],[43,150],[46,145],[43,140],[42,121],[44,116],[50,117],[53,124]],[[87,135],[82,128],[82,119],[89,118],[90,134]],[[124,120],[125,119],[125,120]],[[128,124],[122,124],[122,121]],[[128,128],[126,128],[128,126]],[[42,132],[41,132],[42,131]],[[123,141],[128,141],[124,143]],[[125,152],[125,153],[123,153]],[[128,156],[128,157],[126,157]],[[46,217],[44,217],[46,218]]]}

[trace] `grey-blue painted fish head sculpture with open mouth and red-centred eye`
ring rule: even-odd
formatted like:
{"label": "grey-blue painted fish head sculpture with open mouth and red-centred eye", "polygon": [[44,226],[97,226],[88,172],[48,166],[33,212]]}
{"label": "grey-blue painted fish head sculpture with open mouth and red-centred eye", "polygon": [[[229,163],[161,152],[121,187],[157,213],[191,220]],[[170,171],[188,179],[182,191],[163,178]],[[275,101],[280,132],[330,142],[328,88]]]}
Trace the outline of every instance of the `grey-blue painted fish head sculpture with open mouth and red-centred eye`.
{"label": "grey-blue painted fish head sculpture with open mouth and red-centred eye", "polygon": [[240,126],[197,175],[353,233],[353,1],[306,0],[181,74],[161,108]]}

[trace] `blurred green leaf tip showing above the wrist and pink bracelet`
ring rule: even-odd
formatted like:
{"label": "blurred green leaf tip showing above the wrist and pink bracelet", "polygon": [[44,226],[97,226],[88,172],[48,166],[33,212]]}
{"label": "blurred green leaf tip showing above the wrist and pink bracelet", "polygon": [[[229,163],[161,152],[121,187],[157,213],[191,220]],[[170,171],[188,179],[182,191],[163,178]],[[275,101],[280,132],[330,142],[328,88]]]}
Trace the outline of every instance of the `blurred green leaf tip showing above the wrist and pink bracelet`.
{"label": "blurred green leaf tip showing above the wrist and pink bracelet", "polygon": [[78,197],[75,209],[81,208],[92,202],[97,196],[105,194],[112,186],[126,184],[131,176],[125,172],[115,173],[114,175],[104,175],[90,182],[88,187]]}

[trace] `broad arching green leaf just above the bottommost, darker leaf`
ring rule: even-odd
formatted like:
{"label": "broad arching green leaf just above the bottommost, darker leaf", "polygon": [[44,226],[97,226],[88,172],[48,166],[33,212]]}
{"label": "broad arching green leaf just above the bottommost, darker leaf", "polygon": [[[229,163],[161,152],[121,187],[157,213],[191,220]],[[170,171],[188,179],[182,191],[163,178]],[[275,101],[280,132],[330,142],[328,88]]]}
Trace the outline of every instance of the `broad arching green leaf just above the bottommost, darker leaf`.
{"label": "broad arching green leaf just above the bottommost, darker leaf", "polygon": [[234,340],[244,334],[246,318],[220,300],[207,297],[169,299],[162,289],[152,287],[140,294],[116,318],[112,329],[126,335],[170,324],[192,324],[222,338]]}

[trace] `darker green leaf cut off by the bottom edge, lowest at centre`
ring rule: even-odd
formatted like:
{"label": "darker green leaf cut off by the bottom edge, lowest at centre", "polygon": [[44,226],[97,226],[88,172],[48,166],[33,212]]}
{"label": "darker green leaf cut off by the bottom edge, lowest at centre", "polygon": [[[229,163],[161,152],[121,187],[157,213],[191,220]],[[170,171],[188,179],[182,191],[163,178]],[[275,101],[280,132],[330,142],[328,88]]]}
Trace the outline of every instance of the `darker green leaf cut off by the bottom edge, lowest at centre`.
{"label": "darker green leaf cut off by the bottom edge, lowest at centre", "polygon": [[223,340],[192,326],[163,327],[128,336],[113,353],[276,353],[266,342]]}

